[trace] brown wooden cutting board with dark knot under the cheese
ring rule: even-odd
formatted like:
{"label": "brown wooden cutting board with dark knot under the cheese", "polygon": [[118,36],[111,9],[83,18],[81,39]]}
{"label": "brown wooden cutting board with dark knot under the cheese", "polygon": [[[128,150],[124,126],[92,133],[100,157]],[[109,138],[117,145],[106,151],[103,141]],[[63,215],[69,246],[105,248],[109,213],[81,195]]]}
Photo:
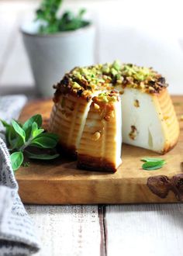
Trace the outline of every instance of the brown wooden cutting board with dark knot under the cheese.
{"label": "brown wooden cutting board with dark knot under the cheese", "polygon": [[[16,171],[19,195],[33,204],[95,204],[183,201],[183,96],[172,97],[181,126],[178,144],[163,158],[167,164],[156,171],[144,171],[140,158],[162,157],[139,147],[123,145],[123,164],[115,174],[83,171],[75,161],[60,157],[54,161],[31,161]],[[36,113],[47,126],[51,100],[30,102],[20,121]]]}

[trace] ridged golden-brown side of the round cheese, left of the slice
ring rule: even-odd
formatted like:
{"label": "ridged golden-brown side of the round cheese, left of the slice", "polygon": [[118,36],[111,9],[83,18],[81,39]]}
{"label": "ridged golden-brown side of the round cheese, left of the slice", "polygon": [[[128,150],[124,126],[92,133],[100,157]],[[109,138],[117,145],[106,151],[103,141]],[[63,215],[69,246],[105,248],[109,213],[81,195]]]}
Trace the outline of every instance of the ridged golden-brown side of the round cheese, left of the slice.
{"label": "ridged golden-brown side of the round cheese, left of the slice", "polygon": [[51,115],[49,130],[59,135],[59,143],[77,150],[90,103],[74,95],[60,95]]}

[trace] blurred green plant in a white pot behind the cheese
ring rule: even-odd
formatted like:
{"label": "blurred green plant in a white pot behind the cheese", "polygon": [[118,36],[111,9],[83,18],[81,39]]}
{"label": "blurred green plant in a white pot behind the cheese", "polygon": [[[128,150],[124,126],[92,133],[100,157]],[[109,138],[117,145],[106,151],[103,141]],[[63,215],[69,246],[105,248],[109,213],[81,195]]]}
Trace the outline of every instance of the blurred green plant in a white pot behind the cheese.
{"label": "blurred green plant in a white pot behind the cheese", "polygon": [[94,63],[95,26],[78,14],[60,13],[61,0],[43,0],[36,10],[36,19],[21,27],[36,88],[43,97],[50,97],[52,86],[75,66]]}

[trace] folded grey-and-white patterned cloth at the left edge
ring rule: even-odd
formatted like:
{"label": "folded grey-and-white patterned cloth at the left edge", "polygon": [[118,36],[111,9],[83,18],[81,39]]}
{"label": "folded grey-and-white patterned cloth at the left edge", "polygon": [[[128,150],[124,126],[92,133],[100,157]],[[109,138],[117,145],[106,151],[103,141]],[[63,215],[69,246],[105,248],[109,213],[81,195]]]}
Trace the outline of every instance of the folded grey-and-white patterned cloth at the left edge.
{"label": "folded grey-and-white patterned cloth at the left edge", "polygon": [[[0,97],[0,119],[16,119],[26,103],[23,95]],[[4,129],[0,125],[0,255],[29,255],[40,249],[33,221],[26,213],[18,194]]]}

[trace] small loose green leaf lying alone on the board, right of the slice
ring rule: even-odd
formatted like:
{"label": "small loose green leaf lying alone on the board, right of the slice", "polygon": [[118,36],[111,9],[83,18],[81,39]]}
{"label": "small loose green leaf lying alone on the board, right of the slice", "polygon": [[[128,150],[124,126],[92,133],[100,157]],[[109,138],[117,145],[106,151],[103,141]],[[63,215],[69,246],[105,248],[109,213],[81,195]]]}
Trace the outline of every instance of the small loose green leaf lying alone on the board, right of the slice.
{"label": "small loose green leaf lying alone on the board, right of the slice", "polygon": [[142,165],[143,170],[147,171],[160,169],[164,166],[164,164],[166,164],[165,160],[162,158],[143,157],[141,161],[144,162]]}

